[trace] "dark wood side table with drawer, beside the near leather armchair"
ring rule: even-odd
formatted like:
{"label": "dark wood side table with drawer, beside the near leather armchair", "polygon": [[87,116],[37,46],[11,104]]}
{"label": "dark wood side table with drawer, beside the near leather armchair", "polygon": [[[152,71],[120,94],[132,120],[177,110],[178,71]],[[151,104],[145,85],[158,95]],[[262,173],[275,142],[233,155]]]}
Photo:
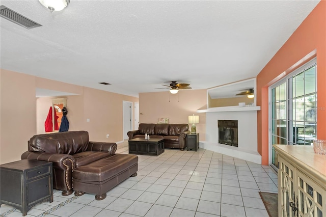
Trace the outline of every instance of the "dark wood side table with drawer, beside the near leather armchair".
{"label": "dark wood side table with drawer, beside the near leather armchair", "polygon": [[0,165],[0,204],[21,210],[25,216],[44,200],[53,202],[52,162],[23,159]]}

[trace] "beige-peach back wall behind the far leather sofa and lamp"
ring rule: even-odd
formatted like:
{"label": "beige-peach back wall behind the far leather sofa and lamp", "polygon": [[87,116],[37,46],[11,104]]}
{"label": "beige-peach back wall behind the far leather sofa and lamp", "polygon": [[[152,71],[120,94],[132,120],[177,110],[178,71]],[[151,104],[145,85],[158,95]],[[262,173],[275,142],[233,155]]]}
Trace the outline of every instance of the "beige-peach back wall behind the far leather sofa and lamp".
{"label": "beige-peach back wall behind the far leather sofa and lamp", "polygon": [[[200,141],[205,141],[206,114],[196,113],[206,109],[206,90],[182,90],[177,94],[169,91],[139,94],[140,123],[157,123],[158,118],[169,118],[169,123],[188,123],[189,115],[199,115],[196,124]],[[189,129],[191,125],[189,125]]]}

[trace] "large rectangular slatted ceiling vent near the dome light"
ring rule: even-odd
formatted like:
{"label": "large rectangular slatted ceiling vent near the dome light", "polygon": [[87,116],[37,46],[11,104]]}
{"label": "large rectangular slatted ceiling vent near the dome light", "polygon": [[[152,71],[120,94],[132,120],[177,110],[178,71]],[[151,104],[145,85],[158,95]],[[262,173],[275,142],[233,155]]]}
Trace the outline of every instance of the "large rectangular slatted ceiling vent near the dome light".
{"label": "large rectangular slatted ceiling vent near the dome light", "polygon": [[1,10],[1,17],[8,19],[9,21],[12,21],[18,25],[23,26],[26,29],[32,29],[38,26],[42,26],[41,24],[34,22],[33,20],[30,20],[29,18],[26,18],[17,12],[7,8],[6,6],[0,6]]}

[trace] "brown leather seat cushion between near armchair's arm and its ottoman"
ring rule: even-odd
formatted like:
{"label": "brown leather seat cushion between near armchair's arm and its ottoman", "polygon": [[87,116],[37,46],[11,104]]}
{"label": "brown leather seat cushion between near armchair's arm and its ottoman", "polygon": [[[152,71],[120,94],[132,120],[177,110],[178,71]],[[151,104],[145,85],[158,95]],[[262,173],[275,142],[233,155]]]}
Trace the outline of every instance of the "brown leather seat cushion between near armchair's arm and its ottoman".
{"label": "brown leather seat cushion between near armchair's arm and its ottoman", "polygon": [[110,155],[111,154],[108,151],[84,151],[72,156],[75,158],[76,167],[82,167]]}

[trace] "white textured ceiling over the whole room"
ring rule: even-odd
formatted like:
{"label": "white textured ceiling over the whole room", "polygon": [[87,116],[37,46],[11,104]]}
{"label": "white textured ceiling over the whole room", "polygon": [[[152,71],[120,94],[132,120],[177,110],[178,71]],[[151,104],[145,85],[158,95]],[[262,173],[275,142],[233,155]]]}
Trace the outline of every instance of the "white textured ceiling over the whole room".
{"label": "white textured ceiling over the whole room", "polygon": [[1,1],[42,25],[1,18],[1,68],[137,97],[207,89],[255,77],[318,2]]}

